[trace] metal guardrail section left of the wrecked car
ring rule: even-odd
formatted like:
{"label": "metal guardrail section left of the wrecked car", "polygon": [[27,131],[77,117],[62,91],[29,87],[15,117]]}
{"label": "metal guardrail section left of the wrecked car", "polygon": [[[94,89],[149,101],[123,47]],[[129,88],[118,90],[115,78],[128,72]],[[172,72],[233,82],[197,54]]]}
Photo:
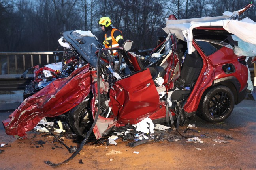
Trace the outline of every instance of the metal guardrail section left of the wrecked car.
{"label": "metal guardrail section left of the wrecked car", "polygon": [[[56,53],[56,55],[55,55]],[[21,75],[28,68],[62,61],[63,52],[0,52],[0,91],[24,90],[33,74]]]}

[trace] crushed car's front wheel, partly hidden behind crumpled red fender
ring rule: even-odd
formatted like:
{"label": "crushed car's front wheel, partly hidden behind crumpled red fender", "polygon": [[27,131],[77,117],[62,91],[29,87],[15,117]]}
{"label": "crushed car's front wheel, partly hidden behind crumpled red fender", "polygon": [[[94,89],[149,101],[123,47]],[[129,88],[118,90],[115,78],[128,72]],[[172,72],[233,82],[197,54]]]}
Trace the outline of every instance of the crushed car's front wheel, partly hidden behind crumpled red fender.
{"label": "crushed car's front wheel, partly hidden behind crumpled red fender", "polygon": [[93,120],[89,105],[89,98],[86,98],[79,105],[70,110],[68,121],[73,131],[80,137],[85,137],[90,129]]}

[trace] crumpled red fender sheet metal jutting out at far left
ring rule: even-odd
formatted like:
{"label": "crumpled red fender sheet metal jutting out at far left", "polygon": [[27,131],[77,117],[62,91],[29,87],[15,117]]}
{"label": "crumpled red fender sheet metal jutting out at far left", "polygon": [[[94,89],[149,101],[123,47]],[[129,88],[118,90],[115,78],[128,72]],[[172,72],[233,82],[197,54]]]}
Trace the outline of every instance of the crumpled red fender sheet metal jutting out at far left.
{"label": "crumpled red fender sheet metal jutting out at far left", "polygon": [[75,70],[41,91],[25,99],[7,120],[3,121],[6,134],[26,137],[42,118],[55,117],[81,103],[89,94],[92,83],[90,65]]}

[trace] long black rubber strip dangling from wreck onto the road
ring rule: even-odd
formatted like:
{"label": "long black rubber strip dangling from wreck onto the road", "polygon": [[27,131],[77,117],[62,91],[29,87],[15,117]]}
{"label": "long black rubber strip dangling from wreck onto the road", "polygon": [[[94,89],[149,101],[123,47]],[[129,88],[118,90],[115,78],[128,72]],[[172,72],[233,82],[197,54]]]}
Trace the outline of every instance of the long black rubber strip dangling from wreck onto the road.
{"label": "long black rubber strip dangling from wreck onto the road", "polygon": [[[97,59],[97,88],[98,88],[98,108],[101,107],[100,105],[100,55],[101,55],[101,49],[99,49],[99,53],[98,53],[98,59]],[[95,118],[94,118],[94,122],[92,124],[92,126],[90,127],[90,130],[88,131],[86,137],[83,139],[80,147],[77,149],[77,151],[75,153],[73,153],[68,159],[66,159],[65,161],[61,162],[61,163],[52,163],[51,161],[45,161],[46,164],[50,165],[50,166],[60,166],[62,164],[66,164],[68,163],[68,161],[70,161],[71,159],[73,159],[76,155],[79,154],[79,152],[83,149],[83,146],[85,145],[85,143],[87,142],[87,139],[89,138],[90,134],[92,133],[92,130],[94,128],[94,126],[96,125],[96,122],[98,120],[98,116],[99,116],[99,112],[100,109],[98,109]]]}

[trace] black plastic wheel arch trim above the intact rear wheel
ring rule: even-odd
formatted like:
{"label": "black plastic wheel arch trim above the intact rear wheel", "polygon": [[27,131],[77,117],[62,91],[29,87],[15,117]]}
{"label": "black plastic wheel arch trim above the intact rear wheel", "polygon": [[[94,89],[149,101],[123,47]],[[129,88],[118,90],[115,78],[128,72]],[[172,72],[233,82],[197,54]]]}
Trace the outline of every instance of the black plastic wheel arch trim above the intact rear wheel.
{"label": "black plastic wheel arch trim above the intact rear wheel", "polygon": [[[216,85],[225,85],[226,87],[230,88],[230,90],[232,91],[232,93],[234,95],[235,104],[239,103],[238,102],[238,93],[241,89],[241,84],[239,83],[239,81],[237,80],[236,77],[230,76],[230,77],[216,79],[213,81],[213,84],[211,87],[216,86]],[[209,88],[211,88],[211,87],[208,87],[207,90],[209,90]],[[205,90],[205,92],[207,90]]]}

